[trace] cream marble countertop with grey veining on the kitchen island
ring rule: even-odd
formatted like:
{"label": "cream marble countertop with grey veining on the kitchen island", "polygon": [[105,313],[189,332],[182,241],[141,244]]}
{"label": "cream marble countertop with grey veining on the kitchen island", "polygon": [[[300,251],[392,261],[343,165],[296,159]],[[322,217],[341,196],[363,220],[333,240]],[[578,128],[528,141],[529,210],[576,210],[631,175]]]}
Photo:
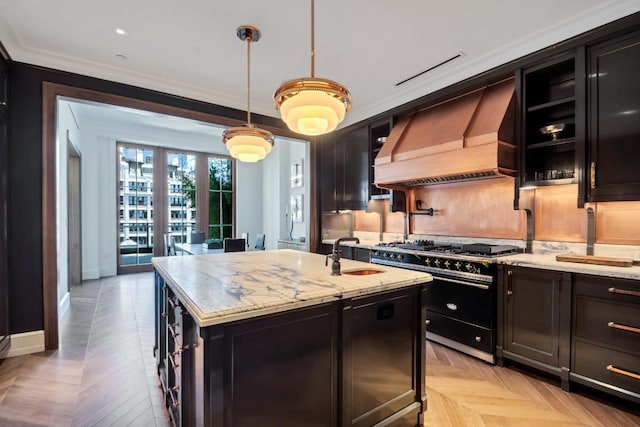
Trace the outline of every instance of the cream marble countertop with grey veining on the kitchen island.
{"label": "cream marble countertop with grey veining on the kitchen island", "polygon": [[153,258],[165,279],[201,327],[399,289],[432,280],[430,274],[341,259],[331,276],[325,256],[293,249]]}

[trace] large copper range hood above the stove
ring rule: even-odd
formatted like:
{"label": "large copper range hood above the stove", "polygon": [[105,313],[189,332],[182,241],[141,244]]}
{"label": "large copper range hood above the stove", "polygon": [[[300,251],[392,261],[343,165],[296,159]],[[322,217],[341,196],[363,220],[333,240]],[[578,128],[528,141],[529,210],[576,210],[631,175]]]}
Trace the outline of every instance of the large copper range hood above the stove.
{"label": "large copper range hood above the stove", "polygon": [[514,92],[508,79],[400,118],[375,159],[375,184],[515,176]]}

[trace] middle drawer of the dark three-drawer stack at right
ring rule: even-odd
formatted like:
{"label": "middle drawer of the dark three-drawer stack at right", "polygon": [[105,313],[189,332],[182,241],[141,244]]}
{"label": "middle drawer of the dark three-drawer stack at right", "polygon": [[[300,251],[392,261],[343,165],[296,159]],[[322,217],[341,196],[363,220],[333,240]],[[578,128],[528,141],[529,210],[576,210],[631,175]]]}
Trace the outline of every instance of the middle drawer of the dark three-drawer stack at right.
{"label": "middle drawer of the dark three-drawer stack at right", "polygon": [[640,353],[640,304],[620,304],[578,297],[576,337]]}

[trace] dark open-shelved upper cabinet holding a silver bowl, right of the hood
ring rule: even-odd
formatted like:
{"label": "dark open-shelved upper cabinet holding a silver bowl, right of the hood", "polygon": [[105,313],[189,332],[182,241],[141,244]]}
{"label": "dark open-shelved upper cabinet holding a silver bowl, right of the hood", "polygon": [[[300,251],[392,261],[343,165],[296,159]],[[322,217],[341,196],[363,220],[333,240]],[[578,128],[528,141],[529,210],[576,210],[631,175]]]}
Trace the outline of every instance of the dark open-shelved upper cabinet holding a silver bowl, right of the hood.
{"label": "dark open-shelved upper cabinet holding a silver bowl, right of the hood", "polygon": [[576,66],[573,55],[522,72],[524,185],[576,178]]}

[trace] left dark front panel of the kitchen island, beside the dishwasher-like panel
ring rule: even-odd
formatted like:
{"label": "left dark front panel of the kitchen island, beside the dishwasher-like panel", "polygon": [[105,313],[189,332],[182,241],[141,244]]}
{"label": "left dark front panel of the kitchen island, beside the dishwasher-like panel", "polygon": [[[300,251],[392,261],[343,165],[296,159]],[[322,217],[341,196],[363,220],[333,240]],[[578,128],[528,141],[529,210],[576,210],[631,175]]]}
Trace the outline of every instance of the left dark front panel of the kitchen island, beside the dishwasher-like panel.
{"label": "left dark front panel of the kitchen island, beside the dishwasher-like panel", "polygon": [[335,304],[225,327],[224,354],[216,354],[218,342],[208,355],[222,362],[224,423],[207,425],[335,425],[337,337]]}

